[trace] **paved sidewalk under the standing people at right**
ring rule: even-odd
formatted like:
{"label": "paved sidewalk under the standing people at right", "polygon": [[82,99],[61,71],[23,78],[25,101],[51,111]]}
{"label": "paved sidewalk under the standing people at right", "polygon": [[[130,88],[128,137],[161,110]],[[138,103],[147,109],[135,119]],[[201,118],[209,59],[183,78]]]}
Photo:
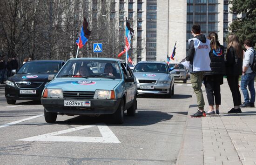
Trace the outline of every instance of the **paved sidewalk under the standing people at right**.
{"label": "paved sidewalk under the standing people at right", "polygon": [[[204,86],[202,90],[207,111]],[[256,165],[256,108],[228,114],[233,99],[226,79],[221,94],[220,115],[190,118],[197,111],[193,94],[177,165]]]}

